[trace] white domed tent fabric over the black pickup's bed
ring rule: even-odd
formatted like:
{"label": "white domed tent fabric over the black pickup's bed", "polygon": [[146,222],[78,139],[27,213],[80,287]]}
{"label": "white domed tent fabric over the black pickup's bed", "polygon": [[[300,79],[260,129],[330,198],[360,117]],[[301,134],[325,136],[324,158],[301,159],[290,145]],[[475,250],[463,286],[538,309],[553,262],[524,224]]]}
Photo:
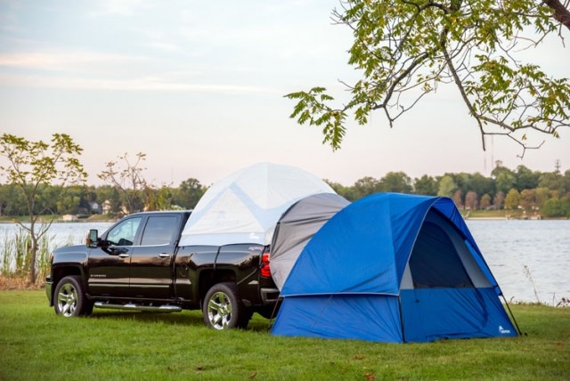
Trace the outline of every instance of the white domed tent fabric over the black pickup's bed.
{"label": "white domed tent fabric over the black pickup's bed", "polygon": [[269,245],[281,215],[299,199],[317,193],[335,191],[294,166],[248,166],[208,188],[184,227],[180,246]]}

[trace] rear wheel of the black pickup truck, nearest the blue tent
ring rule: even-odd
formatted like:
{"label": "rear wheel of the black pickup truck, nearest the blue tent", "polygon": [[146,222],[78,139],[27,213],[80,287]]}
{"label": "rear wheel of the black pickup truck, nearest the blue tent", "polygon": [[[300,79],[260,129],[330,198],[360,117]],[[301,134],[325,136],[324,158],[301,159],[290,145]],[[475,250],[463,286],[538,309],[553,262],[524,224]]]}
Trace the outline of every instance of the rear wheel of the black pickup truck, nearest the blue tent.
{"label": "rear wheel of the black pickup truck, nearest the blue tent", "polygon": [[202,304],[204,324],[208,328],[246,328],[251,313],[241,303],[235,283],[217,283],[212,286]]}

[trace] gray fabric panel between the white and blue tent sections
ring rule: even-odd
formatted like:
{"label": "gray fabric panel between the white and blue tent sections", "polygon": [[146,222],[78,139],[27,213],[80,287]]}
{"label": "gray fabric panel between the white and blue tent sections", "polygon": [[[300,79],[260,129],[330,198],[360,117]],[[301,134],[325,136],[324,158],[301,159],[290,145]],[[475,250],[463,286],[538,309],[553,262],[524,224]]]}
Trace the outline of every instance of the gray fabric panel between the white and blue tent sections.
{"label": "gray fabric panel between the white and blue tent sections", "polygon": [[320,193],[300,199],[277,223],[271,244],[271,272],[281,290],[305,245],[333,215],[350,204],[335,193]]}

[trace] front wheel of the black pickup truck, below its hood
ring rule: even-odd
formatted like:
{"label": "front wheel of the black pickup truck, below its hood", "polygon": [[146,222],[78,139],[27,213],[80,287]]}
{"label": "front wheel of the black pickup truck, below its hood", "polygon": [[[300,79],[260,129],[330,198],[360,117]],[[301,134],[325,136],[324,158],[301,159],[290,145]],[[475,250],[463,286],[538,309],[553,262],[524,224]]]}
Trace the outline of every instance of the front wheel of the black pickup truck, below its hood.
{"label": "front wheel of the black pickup truck, below its hood", "polygon": [[60,280],[53,296],[55,298],[53,309],[58,315],[70,318],[90,312],[89,301],[83,292],[81,278],[77,275],[69,275]]}

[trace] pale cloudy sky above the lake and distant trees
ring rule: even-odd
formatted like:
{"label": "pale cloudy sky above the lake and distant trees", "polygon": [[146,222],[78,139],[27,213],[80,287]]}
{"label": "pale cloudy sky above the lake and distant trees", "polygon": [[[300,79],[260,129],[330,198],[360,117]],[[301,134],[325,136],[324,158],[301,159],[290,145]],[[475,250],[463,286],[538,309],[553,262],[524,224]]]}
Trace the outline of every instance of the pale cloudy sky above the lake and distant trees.
{"label": "pale cloudy sky above the lake and distant trees", "polygon": [[[348,123],[342,148],[319,128],[289,118],[283,95],[327,87],[346,98],[350,29],[330,20],[337,0],[0,1],[0,133],[49,141],[69,134],[83,149],[88,182],[105,163],[144,152],[157,186],[195,178],[205,185],[244,166],[298,166],[352,185],[403,171],[489,175],[493,163],[570,169],[570,131],[537,135],[540,150],[487,138],[453,89],[424,98],[393,128],[377,112]],[[566,30],[563,30],[566,33]],[[568,40],[568,33],[566,33]],[[528,52],[568,76],[568,47]]]}

